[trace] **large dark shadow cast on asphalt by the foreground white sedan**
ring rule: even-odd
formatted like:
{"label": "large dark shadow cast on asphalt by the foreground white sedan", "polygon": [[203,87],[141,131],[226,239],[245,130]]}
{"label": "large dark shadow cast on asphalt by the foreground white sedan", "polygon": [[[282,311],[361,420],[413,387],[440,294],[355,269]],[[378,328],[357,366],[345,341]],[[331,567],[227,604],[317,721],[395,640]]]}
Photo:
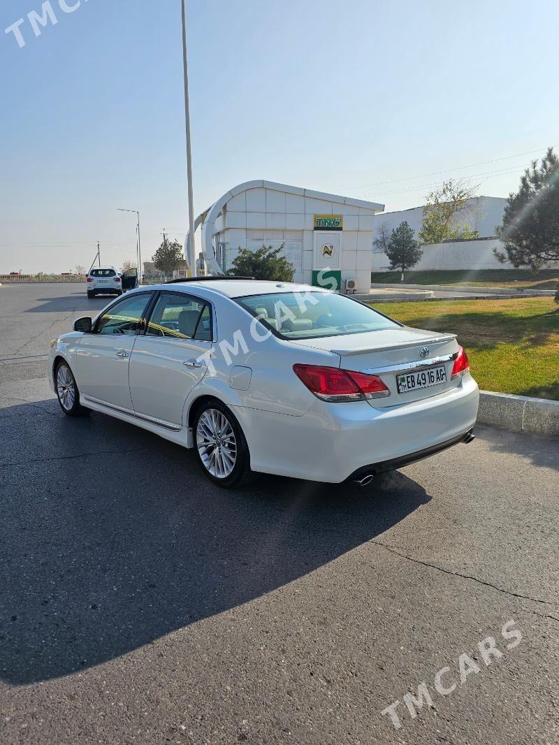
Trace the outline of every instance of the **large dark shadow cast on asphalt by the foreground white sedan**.
{"label": "large dark shadow cast on asphalt by the foreground white sedan", "polygon": [[397,472],[367,489],[266,476],[227,491],[191,452],[102,414],[46,400],[0,415],[0,676],[14,685],[247,603],[429,501]]}

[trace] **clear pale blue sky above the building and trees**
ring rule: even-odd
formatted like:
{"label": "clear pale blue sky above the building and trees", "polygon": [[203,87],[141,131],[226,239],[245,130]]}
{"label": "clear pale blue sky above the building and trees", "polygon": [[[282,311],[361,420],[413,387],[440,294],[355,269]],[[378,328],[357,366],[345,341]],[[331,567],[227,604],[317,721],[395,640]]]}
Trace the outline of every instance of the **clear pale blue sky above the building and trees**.
{"label": "clear pale blue sky above the building and trees", "polygon": [[[118,207],[139,209],[144,259],[163,228],[184,241],[180,0],[77,2],[51,0],[40,37],[27,14],[42,0],[0,4],[25,42],[0,31],[0,273],[89,267],[98,240],[104,263],[133,259],[135,217]],[[189,0],[187,13],[197,215],[259,178],[387,211],[449,176],[506,196],[559,145],[552,0]]]}

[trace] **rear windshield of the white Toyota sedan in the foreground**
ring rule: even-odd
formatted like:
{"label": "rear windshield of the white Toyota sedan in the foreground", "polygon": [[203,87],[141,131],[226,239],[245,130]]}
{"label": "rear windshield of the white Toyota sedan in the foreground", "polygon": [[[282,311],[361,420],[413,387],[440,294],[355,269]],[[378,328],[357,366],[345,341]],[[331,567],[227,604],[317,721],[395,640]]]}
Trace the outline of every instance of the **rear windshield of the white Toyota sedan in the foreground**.
{"label": "rear windshield of the white Toyota sedan in the foreground", "polygon": [[285,339],[344,336],[400,324],[344,295],[330,292],[282,292],[238,297],[236,302]]}

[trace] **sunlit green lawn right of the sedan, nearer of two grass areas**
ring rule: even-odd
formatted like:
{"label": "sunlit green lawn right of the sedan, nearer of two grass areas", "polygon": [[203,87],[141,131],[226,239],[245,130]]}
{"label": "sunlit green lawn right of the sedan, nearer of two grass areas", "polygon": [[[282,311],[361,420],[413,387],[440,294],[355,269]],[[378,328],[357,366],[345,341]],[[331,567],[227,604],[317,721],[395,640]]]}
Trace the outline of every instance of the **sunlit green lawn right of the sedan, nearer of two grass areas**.
{"label": "sunlit green lawn right of the sedan, nearer of two grass areas", "polygon": [[559,306],[552,297],[383,302],[378,308],[406,326],[458,335],[480,388],[559,400]]}

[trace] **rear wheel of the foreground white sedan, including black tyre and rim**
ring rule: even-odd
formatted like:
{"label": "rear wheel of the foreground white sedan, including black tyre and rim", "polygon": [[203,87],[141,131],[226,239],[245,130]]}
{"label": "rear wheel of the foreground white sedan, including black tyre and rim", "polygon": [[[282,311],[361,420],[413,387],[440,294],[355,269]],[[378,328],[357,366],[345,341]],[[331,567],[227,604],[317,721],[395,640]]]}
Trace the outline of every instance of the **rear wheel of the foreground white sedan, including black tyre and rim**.
{"label": "rear wheel of the foreground white sedan, including black tyre and rim", "polygon": [[196,412],[195,450],[208,478],[221,486],[241,486],[250,480],[247,440],[233,413],[217,399]]}

